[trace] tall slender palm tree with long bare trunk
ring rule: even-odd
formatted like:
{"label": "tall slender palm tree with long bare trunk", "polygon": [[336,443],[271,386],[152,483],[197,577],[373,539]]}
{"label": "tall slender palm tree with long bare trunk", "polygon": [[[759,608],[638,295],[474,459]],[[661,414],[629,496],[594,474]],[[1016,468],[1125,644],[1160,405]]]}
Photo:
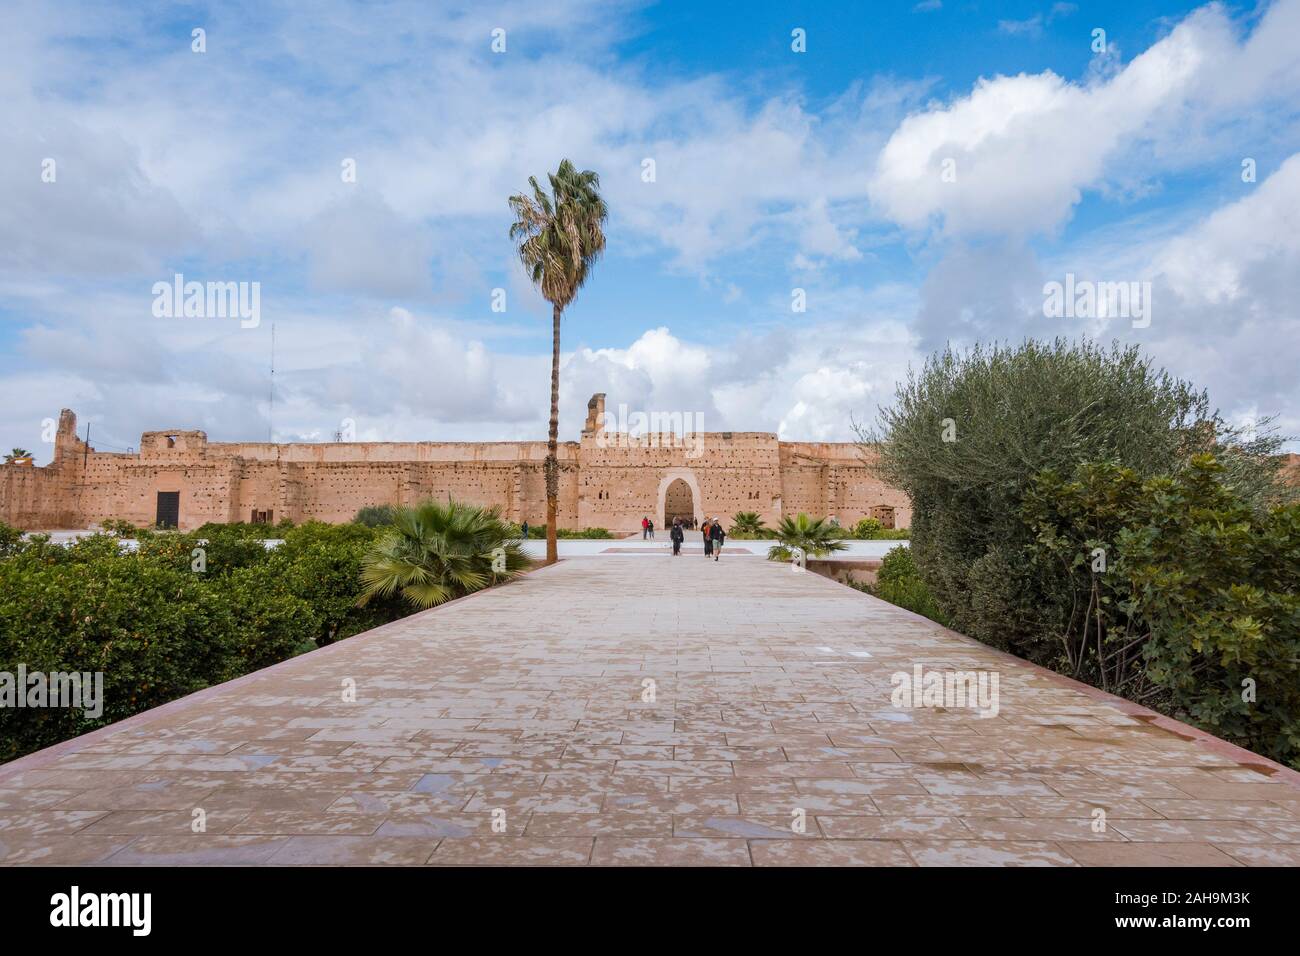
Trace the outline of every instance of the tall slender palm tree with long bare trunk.
{"label": "tall slender palm tree with long bare trunk", "polygon": [[592,265],[604,251],[604,220],[608,211],[597,189],[601,177],[590,169],[578,172],[568,160],[549,173],[551,191],[528,177],[533,195],[510,198],[515,221],[510,238],[519,245],[519,258],[542,298],[551,303],[551,423],[546,440],[546,563],[559,558],[555,548],[555,510],[560,466],[556,445],[560,427],[560,313],[577,297]]}

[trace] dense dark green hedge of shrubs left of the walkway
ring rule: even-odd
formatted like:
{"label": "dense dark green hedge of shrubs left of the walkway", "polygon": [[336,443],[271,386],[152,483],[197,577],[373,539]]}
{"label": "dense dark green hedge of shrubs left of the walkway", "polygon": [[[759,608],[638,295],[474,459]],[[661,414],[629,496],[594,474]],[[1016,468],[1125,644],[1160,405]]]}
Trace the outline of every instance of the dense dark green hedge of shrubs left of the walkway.
{"label": "dense dark green hedge of shrubs left of the walkway", "polygon": [[396,601],[355,606],[376,531],[286,527],[268,550],[250,537],[264,527],[142,529],[136,550],[114,535],[61,546],[0,527],[0,671],[99,671],[105,695],[99,718],[0,709],[0,761],[408,613]]}

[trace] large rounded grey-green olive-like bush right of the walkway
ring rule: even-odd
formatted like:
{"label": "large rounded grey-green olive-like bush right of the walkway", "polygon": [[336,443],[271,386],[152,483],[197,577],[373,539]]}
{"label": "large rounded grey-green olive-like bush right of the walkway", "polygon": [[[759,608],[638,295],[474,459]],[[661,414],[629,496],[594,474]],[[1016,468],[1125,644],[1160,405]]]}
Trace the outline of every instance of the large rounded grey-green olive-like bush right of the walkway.
{"label": "large rounded grey-green olive-like bush right of the walkway", "polygon": [[1165,475],[1218,449],[1252,499],[1279,494],[1266,453],[1204,392],[1154,371],[1136,347],[1026,342],[946,350],[900,385],[875,432],[880,476],[913,503],[911,545],[935,600],[963,633],[1053,663],[1069,587],[1061,568],[1024,561],[1034,532],[1022,505],[1035,476],[1113,460]]}

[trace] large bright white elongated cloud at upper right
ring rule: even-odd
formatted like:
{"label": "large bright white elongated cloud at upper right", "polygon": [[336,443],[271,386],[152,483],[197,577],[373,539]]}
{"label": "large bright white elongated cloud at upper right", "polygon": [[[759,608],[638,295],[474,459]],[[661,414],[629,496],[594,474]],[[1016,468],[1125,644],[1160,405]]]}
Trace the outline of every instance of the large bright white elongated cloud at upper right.
{"label": "large bright white elongated cloud at upper right", "polygon": [[[1212,5],[1122,69],[1102,69],[1088,82],[1052,72],[983,78],[968,95],[898,126],[880,152],[871,198],[910,229],[1052,233],[1084,190],[1132,178],[1126,164],[1144,153],[1182,148],[1186,164],[1190,127],[1208,135],[1209,127],[1236,124],[1248,95],[1282,103],[1294,96],[1300,65],[1283,44],[1297,35],[1297,22],[1300,3],[1283,0],[1239,43],[1235,25]],[[1261,101],[1253,105],[1257,112]],[[945,160],[956,181],[942,177]]]}

